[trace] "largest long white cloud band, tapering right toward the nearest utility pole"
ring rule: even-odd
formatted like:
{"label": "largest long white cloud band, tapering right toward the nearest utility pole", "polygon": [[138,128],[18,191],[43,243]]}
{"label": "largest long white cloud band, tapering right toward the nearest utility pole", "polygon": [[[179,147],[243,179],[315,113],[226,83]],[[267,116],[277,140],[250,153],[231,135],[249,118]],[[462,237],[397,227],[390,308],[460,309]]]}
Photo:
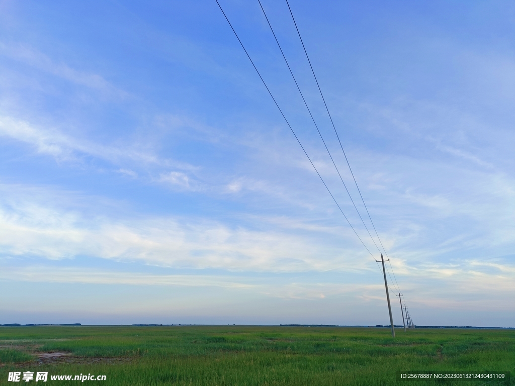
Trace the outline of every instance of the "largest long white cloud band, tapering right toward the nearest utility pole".
{"label": "largest long white cloud band, tapering right toward the nearest utility pole", "polygon": [[[333,254],[303,237],[276,230],[252,231],[202,219],[146,217],[116,220],[48,206],[14,195],[0,205],[0,251],[4,256],[63,259],[94,256],[168,267],[305,271],[341,268],[361,256],[352,248]],[[41,198],[41,196],[40,196]],[[49,199],[44,202],[56,202]],[[355,267],[353,267],[355,269]]]}

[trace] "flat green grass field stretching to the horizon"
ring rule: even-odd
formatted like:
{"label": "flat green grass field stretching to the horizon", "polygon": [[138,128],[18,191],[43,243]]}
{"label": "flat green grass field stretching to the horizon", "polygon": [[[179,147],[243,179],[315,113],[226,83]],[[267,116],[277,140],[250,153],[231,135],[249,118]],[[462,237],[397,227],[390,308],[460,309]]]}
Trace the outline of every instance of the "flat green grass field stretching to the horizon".
{"label": "flat green grass field stretching to the horizon", "polygon": [[[515,330],[266,327],[0,327],[0,384],[79,384],[51,375],[106,375],[102,385],[433,385],[402,371],[515,374]],[[42,353],[61,353],[47,356]],[[66,354],[66,355],[64,355]],[[48,381],[8,382],[9,372]],[[511,384],[515,382],[511,381]]]}

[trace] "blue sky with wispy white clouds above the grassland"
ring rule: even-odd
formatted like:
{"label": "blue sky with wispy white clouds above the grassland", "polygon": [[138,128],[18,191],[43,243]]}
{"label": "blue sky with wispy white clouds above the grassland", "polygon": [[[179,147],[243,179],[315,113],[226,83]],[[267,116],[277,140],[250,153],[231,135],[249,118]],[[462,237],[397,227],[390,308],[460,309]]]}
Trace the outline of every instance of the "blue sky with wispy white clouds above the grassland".
{"label": "blue sky with wispy white clouds above the grassland", "polygon": [[[262,3],[366,216],[286,3]],[[374,257],[214,0],[3,0],[0,323],[389,324],[259,3],[220,4]],[[290,6],[415,323],[514,327],[513,3]]]}

